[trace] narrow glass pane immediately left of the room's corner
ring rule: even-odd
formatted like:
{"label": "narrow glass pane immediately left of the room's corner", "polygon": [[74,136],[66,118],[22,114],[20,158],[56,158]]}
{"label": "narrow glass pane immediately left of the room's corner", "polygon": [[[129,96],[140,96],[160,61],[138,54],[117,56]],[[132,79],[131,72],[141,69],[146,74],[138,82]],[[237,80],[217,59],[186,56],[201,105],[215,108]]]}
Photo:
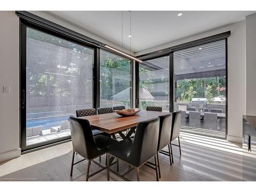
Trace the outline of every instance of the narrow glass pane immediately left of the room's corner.
{"label": "narrow glass pane immediately left of the room's corner", "polygon": [[132,107],[132,60],[100,50],[100,107]]}

